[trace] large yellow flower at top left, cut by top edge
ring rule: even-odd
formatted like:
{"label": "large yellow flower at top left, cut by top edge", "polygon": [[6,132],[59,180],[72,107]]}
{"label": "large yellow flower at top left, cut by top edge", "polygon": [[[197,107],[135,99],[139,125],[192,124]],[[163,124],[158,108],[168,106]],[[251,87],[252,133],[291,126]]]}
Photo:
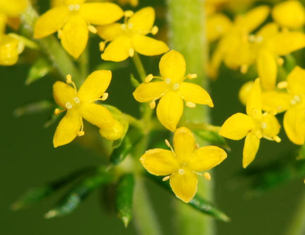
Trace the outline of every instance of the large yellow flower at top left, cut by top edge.
{"label": "large yellow flower at top left, cut by top edge", "polygon": [[63,47],[78,58],[87,45],[89,31],[96,33],[90,24],[109,24],[123,16],[123,10],[113,3],[84,2],[65,0],[65,5],[47,11],[37,20],[34,37],[44,38],[58,31]]}

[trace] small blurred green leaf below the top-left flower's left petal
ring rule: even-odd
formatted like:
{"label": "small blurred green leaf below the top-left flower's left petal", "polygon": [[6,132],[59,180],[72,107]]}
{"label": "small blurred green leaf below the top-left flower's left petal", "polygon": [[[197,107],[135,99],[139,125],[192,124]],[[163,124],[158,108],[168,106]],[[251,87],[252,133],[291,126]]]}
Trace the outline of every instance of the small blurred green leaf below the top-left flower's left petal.
{"label": "small blurred green leaf below the top-left flower's left petal", "polygon": [[31,69],[29,69],[27,78],[25,80],[25,85],[29,85],[34,81],[37,81],[40,78],[43,78],[47,75],[53,67],[51,64],[43,57],[38,58]]}

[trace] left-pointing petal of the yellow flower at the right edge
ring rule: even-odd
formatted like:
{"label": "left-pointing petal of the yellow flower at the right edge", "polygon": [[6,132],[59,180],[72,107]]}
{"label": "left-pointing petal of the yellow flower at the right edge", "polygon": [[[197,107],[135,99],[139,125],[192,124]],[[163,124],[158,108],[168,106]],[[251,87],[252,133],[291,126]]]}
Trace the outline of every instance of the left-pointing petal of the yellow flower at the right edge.
{"label": "left-pointing petal of the yellow flower at the right edge", "polygon": [[262,93],[262,109],[264,111],[284,112],[290,107],[292,97],[284,92],[263,92]]}

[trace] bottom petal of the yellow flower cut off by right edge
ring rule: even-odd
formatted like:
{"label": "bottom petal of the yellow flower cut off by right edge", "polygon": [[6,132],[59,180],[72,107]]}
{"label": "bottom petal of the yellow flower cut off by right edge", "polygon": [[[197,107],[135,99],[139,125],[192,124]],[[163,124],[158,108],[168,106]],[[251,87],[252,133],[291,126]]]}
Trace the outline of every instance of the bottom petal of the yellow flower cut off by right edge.
{"label": "bottom petal of the yellow flower cut off by right edge", "polygon": [[301,106],[287,110],[284,115],[284,128],[288,138],[295,144],[304,144],[305,113]]}

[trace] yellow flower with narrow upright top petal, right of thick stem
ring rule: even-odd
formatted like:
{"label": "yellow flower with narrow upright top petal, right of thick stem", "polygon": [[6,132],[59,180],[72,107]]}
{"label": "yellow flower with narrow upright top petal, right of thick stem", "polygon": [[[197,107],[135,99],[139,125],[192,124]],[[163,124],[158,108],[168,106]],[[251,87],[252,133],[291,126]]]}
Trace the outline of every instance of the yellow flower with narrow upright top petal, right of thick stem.
{"label": "yellow flower with narrow upright top petal, right of thick stem", "polygon": [[276,117],[269,113],[262,114],[259,78],[255,80],[250,91],[246,110],[247,115],[236,113],[229,117],[219,132],[220,135],[233,140],[239,140],[246,136],[242,158],[244,168],[254,160],[262,137],[277,142],[281,141],[277,136],[281,126]]}

